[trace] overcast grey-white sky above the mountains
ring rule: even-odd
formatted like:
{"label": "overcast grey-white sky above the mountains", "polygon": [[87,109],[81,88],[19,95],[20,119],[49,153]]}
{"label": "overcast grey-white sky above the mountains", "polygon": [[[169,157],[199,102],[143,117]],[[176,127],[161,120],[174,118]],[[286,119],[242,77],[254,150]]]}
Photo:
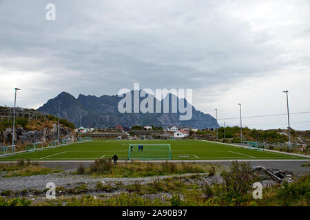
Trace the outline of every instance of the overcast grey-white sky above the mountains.
{"label": "overcast grey-white sky above the mountains", "polygon": [[[56,20],[45,6],[56,5]],[[38,108],[62,91],[193,89],[218,118],[310,111],[310,1],[0,0],[0,105]],[[223,125],[224,120],[219,120]],[[310,129],[310,113],[291,115]],[[239,120],[226,120],[227,126]],[[287,116],[244,126],[287,127]]]}

